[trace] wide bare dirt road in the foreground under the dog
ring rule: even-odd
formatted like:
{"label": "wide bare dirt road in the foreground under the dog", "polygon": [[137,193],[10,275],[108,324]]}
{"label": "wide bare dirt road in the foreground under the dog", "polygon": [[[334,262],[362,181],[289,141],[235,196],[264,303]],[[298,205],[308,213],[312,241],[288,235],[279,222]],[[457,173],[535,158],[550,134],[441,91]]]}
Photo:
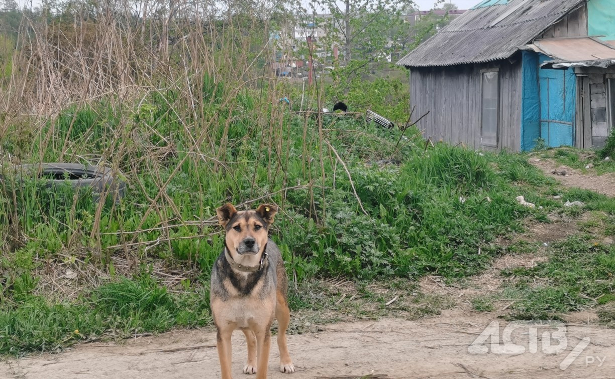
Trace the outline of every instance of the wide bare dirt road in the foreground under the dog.
{"label": "wide bare dirt road in the foreground under the dog", "polygon": [[[615,330],[599,326],[568,326],[568,346],[559,354],[469,353],[468,347],[491,321],[489,313],[451,310],[418,321],[384,319],[338,323],[321,332],[290,335],[288,345],[298,369],[277,371],[277,346],[272,346],[270,378],[307,379],[343,375],[387,374],[389,378],[613,378]],[[502,326],[506,323],[499,321]],[[512,342],[528,348],[527,327],[518,327]],[[500,334],[501,335],[501,334]],[[538,335],[541,335],[539,331]],[[590,343],[568,368],[560,364],[579,342]],[[552,342],[557,345],[557,342]],[[483,346],[487,346],[488,341]],[[212,331],[176,331],[123,344],[79,345],[62,354],[41,354],[0,363],[2,378],[216,378],[220,375]],[[606,357],[606,358],[605,358]],[[599,358],[599,359],[598,359]],[[233,374],[241,373],[245,344],[233,335]],[[600,363],[601,361],[601,363]]]}

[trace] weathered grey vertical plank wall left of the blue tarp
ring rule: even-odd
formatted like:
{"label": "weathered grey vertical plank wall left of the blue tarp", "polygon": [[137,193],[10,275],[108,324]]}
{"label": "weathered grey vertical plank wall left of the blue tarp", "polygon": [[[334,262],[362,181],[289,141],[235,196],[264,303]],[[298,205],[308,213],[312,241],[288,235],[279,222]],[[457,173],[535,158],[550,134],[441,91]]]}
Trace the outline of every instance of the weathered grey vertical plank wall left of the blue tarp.
{"label": "weathered grey vertical plank wall left of the blue tarp", "polygon": [[498,149],[519,151],[521,148],[521,62],[498,61],[490,64],[412,69],[410,104],[415,114],[429,115],[419,121],[423,136],[437,142],[480,145],[482,69],[499,68],[499,136]]}

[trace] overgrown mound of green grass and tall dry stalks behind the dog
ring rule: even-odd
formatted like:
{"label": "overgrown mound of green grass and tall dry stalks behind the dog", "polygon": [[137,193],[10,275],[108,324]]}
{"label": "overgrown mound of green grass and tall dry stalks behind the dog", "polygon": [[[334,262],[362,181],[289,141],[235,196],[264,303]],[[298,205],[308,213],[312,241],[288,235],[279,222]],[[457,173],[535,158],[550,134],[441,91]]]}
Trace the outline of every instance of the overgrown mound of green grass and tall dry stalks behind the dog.
{"label": "overgrown mound of green grass and tall dry stalks behind the dog", "polygon": [[[401,282],[477,274],[504,253],[497,237],[563,209],[546,196],[554,181],[525,156],[427,145],[407,124],[400,82],[336,88],[320,78],[306,88],[269,75],[270,31],[285,16],[276,9],[255,20],[234,8],[226,18],[157,4],[140,23],[114,4],[82,5],[29,20],[3,61],[11,69],[0,83],[0,353],[208,324],[207,283],[223,248],[213,216],[227,201],[280,205],[272,238],[288,262],[294,309],[323,304],[315,290],[302,292],[314,278],[343,276],[358,287],[389,281],[405,293],[394,307],[407,317],[450,305]],[[44,33],[34,38],[34,29]],[[339,96],[359,114],[314,112]],[[366,123],[368,108],[397,127]],[[42,162],[109,167],[127,194],[98,199],[16,169]],[[537,207],[518,204],[520,194]],[[605,197],[569,194],[615,214]],[[609,264],[605,247],[590,249]],[[358,296],[371,313],[324,306],[385,313],[382,293]]]}

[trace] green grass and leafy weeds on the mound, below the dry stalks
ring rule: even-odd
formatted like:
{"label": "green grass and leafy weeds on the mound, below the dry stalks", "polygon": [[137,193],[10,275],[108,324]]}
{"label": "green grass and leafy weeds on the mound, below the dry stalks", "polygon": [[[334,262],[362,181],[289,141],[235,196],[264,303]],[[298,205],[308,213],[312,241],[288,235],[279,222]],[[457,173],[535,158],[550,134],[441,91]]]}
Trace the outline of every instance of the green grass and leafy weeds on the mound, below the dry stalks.
{"label": "green grass and leafy weeds on the mound, below the dry stalks", "polygon": [[[0,352],[207,323],[207,294],[191,291],[206,288],[223,248],[212,216],[227,201],[280,205],[271,234],[298,281],[476,274],[499,253],[491,244],[498,235],[542,215],[515,197],[536,196],[531,186],[550,182],[514,156],[425,148],[416,129],[295,113],[271,102],[275,93],[244,89],[229,98],[232,88],[207,75],[197,90],[208,99],[199,112],[173,91],[154,91],[134,103],[69,107],[24,137],[24,163],[112,167],[128,185],[119,204],[69,185],[50,189],[39,178],[16,180],[3,164]],[[132,280],[116,274],[120,258],[135,262]],[[153,263],[196,273],[175,284],[189,294],[139,274]],[[41,293],[34,272],[66,264],[96,267],[111,283],[81,283],[72,300]]]}

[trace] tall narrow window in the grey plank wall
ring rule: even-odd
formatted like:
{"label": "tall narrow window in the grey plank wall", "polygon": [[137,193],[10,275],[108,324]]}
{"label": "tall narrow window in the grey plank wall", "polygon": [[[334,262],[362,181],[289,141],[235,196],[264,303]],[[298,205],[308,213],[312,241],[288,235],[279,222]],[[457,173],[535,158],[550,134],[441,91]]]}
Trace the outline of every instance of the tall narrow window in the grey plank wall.
{"label": "tall narrow window in the grey plank wall", "polygon": [[498,147],[499,72],[498,69],[481,73],[480,144]]}

